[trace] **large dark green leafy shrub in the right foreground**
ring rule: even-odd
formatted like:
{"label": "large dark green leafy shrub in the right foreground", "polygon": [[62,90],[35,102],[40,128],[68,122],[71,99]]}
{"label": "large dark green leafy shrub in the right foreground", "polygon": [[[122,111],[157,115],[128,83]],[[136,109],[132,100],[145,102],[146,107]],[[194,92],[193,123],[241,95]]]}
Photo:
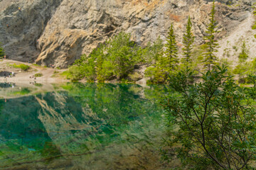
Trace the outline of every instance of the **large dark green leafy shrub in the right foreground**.
{"label": "large dark green leafy shrub in the right foreground", "polygon": [[256,154],[255,107],[226,73],[226,67],[215,67],[195,84],[190,84],[190,70],[170,77],[179,96],[169,98],[164,108],[169,125],[178,128],[165,140],[166,159],[181,159],[190,169],[250,168]]}

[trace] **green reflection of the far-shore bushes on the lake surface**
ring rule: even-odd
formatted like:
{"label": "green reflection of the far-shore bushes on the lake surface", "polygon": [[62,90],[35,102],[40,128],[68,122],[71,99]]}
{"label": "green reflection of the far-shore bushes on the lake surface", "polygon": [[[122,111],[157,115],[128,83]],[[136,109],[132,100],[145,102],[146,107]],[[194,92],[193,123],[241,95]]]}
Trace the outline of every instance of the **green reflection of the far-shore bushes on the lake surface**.
{"label": "green reflection of the far-shore bushes on the lake surface", "polygon": [[[164,112],[159,105],[149,103],[146,98],[139,96],[143,88],[137,84],[77,83],[65,84],[63,89],[69,91],[69,95],[72,95],[75,101],[82,103],[83,107],[90,107],[90,110],[101,120],[100,125],[107,124],[108,127],[110,125],[124,127],[140,116],[156,113],[159,115]],[[146,94],[151,96],[151,100],[155,100],[156,96],[149,93],[156,91],[149,89]]]}

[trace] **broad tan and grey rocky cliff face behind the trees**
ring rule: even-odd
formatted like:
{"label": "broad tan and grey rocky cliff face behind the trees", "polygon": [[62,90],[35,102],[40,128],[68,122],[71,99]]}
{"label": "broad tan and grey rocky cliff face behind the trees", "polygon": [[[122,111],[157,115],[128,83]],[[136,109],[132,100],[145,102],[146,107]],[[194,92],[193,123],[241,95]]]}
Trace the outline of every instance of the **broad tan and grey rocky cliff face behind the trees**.
{"label": "broad tan and grey rocky cliff face behind the trees", "polygon": [[[254,2],[216,2],[218,38],[240,26]],[[210,8],[203,0],[0,0],[0,42],[11,59],[67,67],[122,30],[145,45],[158,36],[166,39],[174,23],[181,46],[188,15],[201,43]]]}

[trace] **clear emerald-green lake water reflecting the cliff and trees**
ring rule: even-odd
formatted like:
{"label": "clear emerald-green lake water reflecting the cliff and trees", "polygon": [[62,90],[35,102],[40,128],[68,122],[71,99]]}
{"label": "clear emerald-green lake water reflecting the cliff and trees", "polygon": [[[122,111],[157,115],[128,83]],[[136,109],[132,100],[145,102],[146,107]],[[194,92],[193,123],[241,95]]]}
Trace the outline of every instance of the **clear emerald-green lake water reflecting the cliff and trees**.
{"label": "clear emerald-green lake water reflecting the cliff and trees", "polygon": [[159,156],[164,86],[2,86],[15,93],[0,99],[0,169],[170,168]]}

